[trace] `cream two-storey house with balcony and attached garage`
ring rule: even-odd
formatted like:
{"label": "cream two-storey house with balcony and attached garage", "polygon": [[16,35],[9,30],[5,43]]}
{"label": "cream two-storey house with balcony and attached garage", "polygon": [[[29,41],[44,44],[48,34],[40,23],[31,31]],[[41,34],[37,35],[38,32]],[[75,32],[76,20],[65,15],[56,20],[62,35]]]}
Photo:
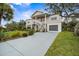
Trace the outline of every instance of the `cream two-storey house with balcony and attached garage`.
{"label": "cream two-storey house with balcony and attached garage", "polygon": [[61,16],[36,11],[32,14],[31,19],[26,20],[26,28],[36,31],[61,32]]}

